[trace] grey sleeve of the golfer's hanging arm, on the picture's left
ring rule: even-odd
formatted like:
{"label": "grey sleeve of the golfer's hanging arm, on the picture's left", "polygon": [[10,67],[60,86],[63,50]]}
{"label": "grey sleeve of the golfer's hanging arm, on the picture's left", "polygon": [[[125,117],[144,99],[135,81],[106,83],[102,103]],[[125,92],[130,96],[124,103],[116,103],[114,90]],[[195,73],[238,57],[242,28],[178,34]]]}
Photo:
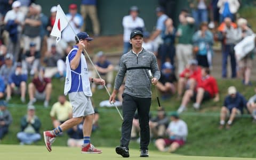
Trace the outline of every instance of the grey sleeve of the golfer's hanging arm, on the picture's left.
{"label": "grey sleeve of the golfer's hanging arm, on the picture's left", "polygon": [[118,73],[116,75],[116,79],[115,79],[115,86],[114,86],[115,90],[119,90],[119,87],[122,85],[122,83],[124,81],[125,73],[126,73],[126,66],[124,64],[123,57],[121,57],[119,71],[118,71]]}

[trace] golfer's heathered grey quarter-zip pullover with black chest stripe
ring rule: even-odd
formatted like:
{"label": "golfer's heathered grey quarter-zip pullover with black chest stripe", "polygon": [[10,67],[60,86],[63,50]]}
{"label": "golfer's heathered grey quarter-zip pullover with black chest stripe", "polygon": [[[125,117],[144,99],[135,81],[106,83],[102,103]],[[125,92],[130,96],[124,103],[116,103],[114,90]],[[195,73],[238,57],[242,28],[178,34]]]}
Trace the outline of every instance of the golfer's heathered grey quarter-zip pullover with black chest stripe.
{"label": "golfer's heathered grey quarter-zip pullover with black chest stripe", "polygon": [[160,78],[157,60],[152,52],[143,49],[138,56],[132,50],[127,52],[120,59],[114,89],[119,89],[126,74],[124,93],[139,98],[151,98],[149,69],[155,78]]}

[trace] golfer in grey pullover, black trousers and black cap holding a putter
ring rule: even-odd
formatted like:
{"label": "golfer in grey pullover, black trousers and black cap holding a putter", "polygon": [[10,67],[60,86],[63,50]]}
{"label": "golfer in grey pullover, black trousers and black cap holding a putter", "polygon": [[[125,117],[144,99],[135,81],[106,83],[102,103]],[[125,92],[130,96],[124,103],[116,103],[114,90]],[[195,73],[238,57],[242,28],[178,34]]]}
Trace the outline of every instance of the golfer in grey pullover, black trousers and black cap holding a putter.
{"label": "golfer in grey pullover, black trousers and black cap holding a putter", "polygon": [[[143,49],[143,34],[140,30],[133,30],[130,35],[132,50],[120,59],[120,68],[115,79],[113,93],[109,102],[115,102],[119,87],[126,74],[125,89],[123,93],[123,117],[121,146],[116,147],[116,153],[129,157],[129,142],[131,138],[132,120],[138,109],[140,122],[140,157],[148,157],[149,135],[149,109],[151,105],[151,83],[157,84],[160,78],[156,57],[153,53]],[[153,73],[150,78],[148,70]]]}

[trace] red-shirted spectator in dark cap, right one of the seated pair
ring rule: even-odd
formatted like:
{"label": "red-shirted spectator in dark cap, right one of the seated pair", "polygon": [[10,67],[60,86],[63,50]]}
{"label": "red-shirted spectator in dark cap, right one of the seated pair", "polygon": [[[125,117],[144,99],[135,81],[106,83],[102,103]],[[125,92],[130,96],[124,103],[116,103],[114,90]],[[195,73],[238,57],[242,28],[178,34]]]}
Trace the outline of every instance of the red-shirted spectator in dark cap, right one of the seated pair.
{"label": "red-shirted spectator in dark cap, right one of the seated pair", "polygon": [[199,109],[203,100],[214,98],[214,101],[219,101],[219,89],[216,79],[210,75],[209,68],[202,69],[201,78],[197,78],[197,86],[195,90],[187,90],[183,96],[178,113],[186,109],[186,105],[190,99],[195,100],[193,104],[195,109]]}

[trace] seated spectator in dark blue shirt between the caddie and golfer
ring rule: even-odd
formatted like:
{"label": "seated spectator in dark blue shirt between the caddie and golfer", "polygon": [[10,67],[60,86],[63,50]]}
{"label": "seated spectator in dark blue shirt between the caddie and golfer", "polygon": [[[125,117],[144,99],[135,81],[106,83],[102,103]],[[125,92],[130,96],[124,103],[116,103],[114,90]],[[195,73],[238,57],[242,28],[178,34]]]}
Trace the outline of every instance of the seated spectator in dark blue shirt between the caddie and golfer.
{"label": "seated spectator in dark blue shirt between the caddie and golfer", "polygon": [[[95,68],[98,70],[100,76],[103,79],[107,80],[107,88],[109,92],[111,91],[112,83],[113,83],[113,76],[114,76],[114,66],[111,64],[109,60],[107,60],[106,55],[100,51],[96,54],[97,61],[95,63]],[[93,71],[93,77],[97,77],[97,73]],[[92,92],[95,92],[96,85],[92,84]]]}

